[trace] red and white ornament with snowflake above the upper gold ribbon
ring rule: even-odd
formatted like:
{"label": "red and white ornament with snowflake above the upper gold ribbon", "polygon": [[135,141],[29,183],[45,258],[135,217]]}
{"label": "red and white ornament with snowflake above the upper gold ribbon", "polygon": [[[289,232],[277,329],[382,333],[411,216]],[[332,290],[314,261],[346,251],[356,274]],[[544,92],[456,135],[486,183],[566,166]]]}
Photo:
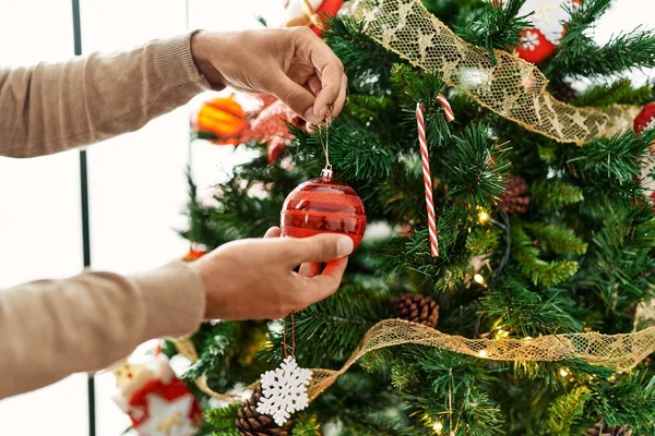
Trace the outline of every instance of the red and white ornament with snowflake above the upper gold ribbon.
{"label": "red and white ornament with snowflake above the upper gold ribbon", "polygon": [[[492,4],[499,5],[499,3],[495,1]],[[527,0],[519,14],[526,15],[534,12],[529,20],[535,27],[526,28],[521,33],[520,45],[516,47],[519,57],[538,63],[555,53],[565,33],[563,23],[570,19],[567,8],[571,10],[579,5],[580,0]]]}

